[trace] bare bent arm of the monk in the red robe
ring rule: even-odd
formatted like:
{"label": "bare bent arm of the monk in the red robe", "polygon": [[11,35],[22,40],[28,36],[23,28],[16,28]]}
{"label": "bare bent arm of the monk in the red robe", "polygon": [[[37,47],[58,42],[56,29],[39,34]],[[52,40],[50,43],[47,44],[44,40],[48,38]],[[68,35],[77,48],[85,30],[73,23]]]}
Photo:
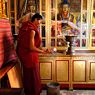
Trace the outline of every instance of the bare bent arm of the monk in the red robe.
{"label": "bare bent arm of the monk in the red robe", "polygon": [[35,47],[35,45],[34,45],[34,37],[35,37],[35,31],[31,30],[31,33],[30,33],[30,50],[37,51],[39,53],[45,53],[44,50]]}

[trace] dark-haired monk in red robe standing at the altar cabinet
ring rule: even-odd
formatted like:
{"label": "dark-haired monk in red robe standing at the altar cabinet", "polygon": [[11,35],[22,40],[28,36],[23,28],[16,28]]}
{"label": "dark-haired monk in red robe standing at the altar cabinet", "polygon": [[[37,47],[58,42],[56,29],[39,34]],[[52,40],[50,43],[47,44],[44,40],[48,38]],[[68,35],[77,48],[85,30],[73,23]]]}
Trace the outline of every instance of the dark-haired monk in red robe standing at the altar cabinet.
{"label": "dark-haired monk in red robe standing at the altar cabinet", "polygon": [[40,49],[41,21],[42,16],[36,13],[31,21],[23,23],[19,29],[17,54],[23,66],[25,95],[40,95],[41,91],[38,53],[45,53],[45,50]]}

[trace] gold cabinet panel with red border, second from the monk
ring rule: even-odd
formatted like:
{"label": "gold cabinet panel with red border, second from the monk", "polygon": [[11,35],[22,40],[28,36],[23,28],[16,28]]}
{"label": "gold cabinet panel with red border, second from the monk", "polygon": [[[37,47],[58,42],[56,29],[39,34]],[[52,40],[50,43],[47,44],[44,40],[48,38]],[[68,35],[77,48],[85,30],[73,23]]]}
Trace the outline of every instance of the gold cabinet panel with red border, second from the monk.
{"label": "gold cabinet panel with red border, second from the monk", "polygon": [[56,80],[69,81],[69,60],[56,60]]}

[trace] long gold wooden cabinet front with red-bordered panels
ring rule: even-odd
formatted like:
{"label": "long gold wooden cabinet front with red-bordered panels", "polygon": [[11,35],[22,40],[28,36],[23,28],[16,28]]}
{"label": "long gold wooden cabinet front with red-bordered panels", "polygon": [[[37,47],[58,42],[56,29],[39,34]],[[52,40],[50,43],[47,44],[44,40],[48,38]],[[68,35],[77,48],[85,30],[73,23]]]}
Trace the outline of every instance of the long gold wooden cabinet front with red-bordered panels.
{"label": "long gold wooden cabinet front with red-bordered panels", "polygon": [[58,82],[61,88],[95,88],[95,55],[40,55],[42,84]]}

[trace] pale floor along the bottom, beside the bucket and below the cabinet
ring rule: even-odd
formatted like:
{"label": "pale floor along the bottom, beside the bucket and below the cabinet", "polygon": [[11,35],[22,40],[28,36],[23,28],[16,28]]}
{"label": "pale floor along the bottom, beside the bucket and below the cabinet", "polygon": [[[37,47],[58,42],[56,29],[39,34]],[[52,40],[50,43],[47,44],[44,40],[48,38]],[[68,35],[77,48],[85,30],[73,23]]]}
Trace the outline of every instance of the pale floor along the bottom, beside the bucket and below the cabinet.
{"label": "pale floor along the bottom, beside the bucket and below the cabinet", "polygon": [[[40,95],[47,95],[47,91],[43,90]],[[60,90],[59,95],[95,95],[95,90],[73,90],[73,91]]]}

